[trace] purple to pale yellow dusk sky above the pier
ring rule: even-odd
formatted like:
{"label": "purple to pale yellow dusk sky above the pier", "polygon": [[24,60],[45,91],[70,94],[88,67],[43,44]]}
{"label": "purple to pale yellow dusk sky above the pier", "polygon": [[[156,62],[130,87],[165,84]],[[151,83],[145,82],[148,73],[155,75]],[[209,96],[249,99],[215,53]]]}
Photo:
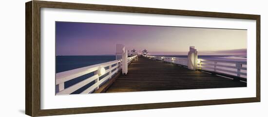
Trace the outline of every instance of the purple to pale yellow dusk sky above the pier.
{"label": "purple to pale yellow dusk sky above the pier", "polygon": [[56,22],[57,55],[115,54],[116,44],[151,55],[246,55],[247,30]]}

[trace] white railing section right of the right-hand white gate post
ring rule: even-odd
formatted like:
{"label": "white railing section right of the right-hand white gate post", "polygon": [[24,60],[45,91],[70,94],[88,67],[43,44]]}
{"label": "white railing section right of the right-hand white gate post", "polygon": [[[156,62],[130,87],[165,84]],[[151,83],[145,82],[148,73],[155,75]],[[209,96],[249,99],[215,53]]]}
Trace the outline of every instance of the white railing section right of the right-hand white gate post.
{"label": "white railing section right of the right-hand white gate post", "polygon": [[197,69],[220,72],[247,78],[247,62],[213,61],[198,59]]}

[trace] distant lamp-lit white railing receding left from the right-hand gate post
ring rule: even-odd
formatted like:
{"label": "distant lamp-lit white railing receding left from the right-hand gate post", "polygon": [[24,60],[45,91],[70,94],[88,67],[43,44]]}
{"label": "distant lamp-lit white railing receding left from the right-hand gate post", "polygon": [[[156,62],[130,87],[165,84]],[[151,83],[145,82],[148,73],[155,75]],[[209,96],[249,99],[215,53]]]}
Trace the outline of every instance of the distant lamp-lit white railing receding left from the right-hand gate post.
{"label": "distant lamp-lit white railing receding left from the right-hand gate post", "polygon": [[183,57],[167,57],[167,56],[147,56],[150,59],[156,59],[160,61],[165,61],[173,64],[178,64],[182,66],[188,66],[188,58]]}

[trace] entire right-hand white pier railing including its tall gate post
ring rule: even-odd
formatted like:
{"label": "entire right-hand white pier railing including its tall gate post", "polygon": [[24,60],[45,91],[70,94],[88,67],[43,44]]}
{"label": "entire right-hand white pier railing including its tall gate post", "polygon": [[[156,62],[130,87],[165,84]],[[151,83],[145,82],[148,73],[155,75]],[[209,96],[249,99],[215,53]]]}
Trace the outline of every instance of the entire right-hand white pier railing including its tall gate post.
{"label": "entire right-hand white pier railing including its tall gate post", "polygon": [[230,61],[214,61],[206,59],[198,59],[197,50],[193,46],[190,47],[188,58],[167,57],[167,56],[151,56],[149,59],[164,61],[177,64],[189,68],[191,70],[200,70],[207,73],[213,73],[225,77],[241,77],[247,78],[247,62],[230,62]]}

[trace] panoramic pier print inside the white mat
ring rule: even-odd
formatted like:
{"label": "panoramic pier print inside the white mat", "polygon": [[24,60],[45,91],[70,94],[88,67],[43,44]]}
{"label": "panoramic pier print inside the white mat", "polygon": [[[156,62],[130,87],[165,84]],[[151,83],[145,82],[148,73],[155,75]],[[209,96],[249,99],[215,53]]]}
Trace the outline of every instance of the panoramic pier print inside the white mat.
{"label": "panoramic pier print inside the white mat", "polygon": [[247,87],[247,30],[55,23],[56,95]]}

